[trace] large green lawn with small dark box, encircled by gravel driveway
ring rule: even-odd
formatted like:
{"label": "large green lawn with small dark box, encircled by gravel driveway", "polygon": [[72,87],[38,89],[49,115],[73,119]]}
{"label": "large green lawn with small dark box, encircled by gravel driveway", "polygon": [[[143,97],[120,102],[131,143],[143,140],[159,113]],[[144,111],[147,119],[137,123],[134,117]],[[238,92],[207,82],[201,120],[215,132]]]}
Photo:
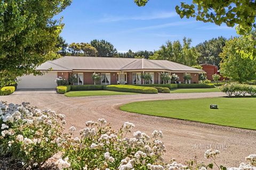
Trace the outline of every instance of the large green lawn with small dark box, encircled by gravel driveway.
{"label": "large green lawn with small dark box, encircled by gravel driveway", "polygon": [[[256,130],[256,98],[202,98],[140,101],[121,110]],[[217,104],[219,109],[210,109]]]}

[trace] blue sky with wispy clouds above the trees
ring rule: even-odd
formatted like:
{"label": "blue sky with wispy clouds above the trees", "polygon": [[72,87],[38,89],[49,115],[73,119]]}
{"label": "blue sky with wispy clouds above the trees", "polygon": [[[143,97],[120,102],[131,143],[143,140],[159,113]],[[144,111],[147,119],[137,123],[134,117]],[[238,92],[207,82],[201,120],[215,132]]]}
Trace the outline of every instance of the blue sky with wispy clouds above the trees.
{"label": "blue sky with wispy clouds above the trees", "polygon": [[138,7],[133,0],[73,0],[60,14],[65,23],[61,36],[67,43],[105,39],[118,52],[157,50],[167,40],[182,41],[183,37],[191,38],[195,46],[219,36],[237,36],[235,28],[226,25],[180,19],[175,13],[180,2],[150,0]]}

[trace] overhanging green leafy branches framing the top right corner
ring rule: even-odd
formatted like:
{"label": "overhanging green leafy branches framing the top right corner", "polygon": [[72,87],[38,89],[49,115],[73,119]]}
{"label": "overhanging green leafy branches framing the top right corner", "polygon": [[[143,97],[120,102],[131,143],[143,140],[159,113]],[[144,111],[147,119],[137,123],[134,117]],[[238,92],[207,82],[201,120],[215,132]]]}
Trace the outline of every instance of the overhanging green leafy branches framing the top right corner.
{"label": "overhanging green leafy branches framing the top right corner", "polygon": [[[145,6],[149,0],[134,0],[138,6]],[[237,33],[249,36],[250,31],[256,28],[256,1],[254,0],[229,0],[229,1],[204,1],[193,0],[189,5],[181,2],[175,7],[180,18],[196,18],[198,21],[213,22],[217,25],[225,23],[228,27],[236,26]],[[240,48],[237,53],[242,57],[256,56],[256,39],[253,46]]]}

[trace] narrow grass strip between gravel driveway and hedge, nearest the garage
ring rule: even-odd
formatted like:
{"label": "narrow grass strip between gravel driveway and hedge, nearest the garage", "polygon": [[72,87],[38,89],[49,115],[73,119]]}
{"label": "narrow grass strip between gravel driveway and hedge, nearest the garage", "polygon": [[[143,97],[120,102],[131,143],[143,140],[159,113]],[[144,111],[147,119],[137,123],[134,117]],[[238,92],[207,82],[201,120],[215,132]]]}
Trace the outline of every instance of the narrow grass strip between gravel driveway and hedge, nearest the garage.
{"label": "narrow grass strip between gravel driveway and hedge, nearest the garage", "polygon": [[86,91],[69,91],[66,92],[67,97],[79,97],[79,96],[109,96],[109,95],[134,95],[134,92],[118,92],[108,90],[86,90]]}

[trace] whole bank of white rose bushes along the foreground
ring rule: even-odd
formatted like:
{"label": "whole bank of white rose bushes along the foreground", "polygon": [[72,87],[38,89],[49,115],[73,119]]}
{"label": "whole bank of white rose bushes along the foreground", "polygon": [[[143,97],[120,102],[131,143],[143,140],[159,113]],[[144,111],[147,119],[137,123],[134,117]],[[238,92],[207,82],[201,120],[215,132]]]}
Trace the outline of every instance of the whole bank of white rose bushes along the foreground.
{"label": "whole bank of white rose bushes along the foreground", "polygon": [[[24,167],[41,166],[58,151],[62,157],[55,163],[61,169],[220,169],[220,170],[256,170],[256,155],[245,158],[247,163],[239,167],[218,165],[218,150],[207,150],[205,158],[211,163],[204,165],[196,160],[186,165],[163,161],[166,151],[160,140],[163,133],[155,130],[151,136],[137,131],[131,132],[134,124],[125,122],[115,131],[103,118],[97,122],[87,121],[85,128],[76,136],[76,128],[69,128],[63,134],[65,115],[54,111],[41,111],[29,107],[28,103],[14,105],[0,103],[0,155],[11,154],[24,163]],[[131,135],[132,134],[132,135]]]}

